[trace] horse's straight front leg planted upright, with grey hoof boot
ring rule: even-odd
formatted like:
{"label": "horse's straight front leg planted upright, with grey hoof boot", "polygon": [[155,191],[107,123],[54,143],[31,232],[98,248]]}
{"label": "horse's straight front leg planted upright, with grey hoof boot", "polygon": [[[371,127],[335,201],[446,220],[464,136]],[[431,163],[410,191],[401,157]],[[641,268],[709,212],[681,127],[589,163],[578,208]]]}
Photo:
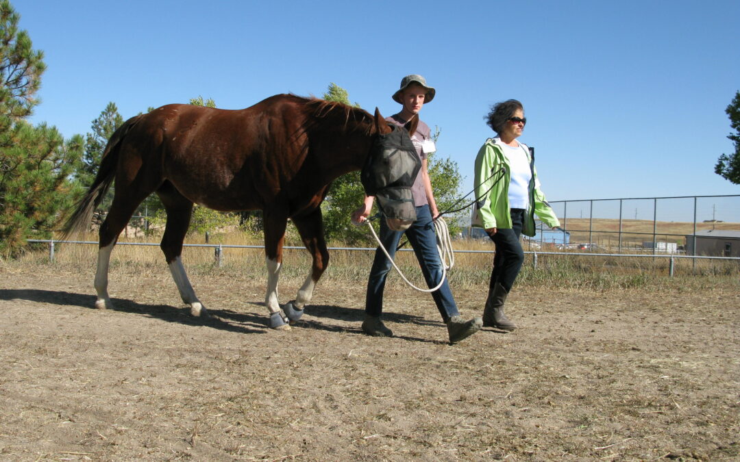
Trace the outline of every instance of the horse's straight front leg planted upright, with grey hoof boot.
{"label": "horse's straight front leg planted upright, with grey hoof boot", "polygon": [[267,266],[267,293],[265,306],[270,312],[270,327],[276,330],[289,330],[289,319],[280,309],[277,296],[277,282],[280,279],[280,266],[283,264],[283,243],[288,214],[279,205],[264,211],[265,262]]}

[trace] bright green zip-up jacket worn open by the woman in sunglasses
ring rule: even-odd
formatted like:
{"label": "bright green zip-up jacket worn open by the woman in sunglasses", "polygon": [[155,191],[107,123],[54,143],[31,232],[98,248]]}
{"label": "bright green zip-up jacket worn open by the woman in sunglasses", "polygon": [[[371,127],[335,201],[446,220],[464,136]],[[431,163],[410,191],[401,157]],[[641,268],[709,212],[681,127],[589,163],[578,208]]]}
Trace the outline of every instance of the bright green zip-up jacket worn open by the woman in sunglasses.
{"label": "bright green zip-up jacket worn open by the woman in sunglasses", "polygon": [[[511,181],[511,167],[508,160],[503,154],[503,149],[499,146],[501,139],[488,138],[478,151],[475,159],[475,197],[477,204],[473,208],[473,226],[488,228],[511,228],[511,212],[509,211],[508,186]],[[555,216],[555,212],[550,204],[545,200],[545,194],[539,190],[539,180],[537,180],[537,171],[534,168],[534,156],[529,148],[519,143],[527,152],[529,167],[532,171],[531,180],[529,180],[529,204],[527,213],[525,213],[522,234],[534,237],[534,214],[537,214],[542,222],[545,222],[551,228],[560,225]],[[501,177],[499,173],[504,168],[501,180],[494,185],[497,178]],[[491,177],[491,174],[493,176]],[[491,189],[488,191],[488,189]],[[486,192],[488,191],[488,192]]]}

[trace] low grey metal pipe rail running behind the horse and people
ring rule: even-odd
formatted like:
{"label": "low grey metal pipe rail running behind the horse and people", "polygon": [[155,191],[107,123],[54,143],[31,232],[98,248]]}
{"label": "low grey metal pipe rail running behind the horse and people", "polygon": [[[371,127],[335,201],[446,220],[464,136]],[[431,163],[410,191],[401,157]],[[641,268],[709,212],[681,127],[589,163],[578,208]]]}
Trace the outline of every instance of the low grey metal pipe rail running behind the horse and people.
{"label": "low grey metal pipe rail running behind the horse and people", "polygon": [[[50,239],[28,239],[27,242],[47,242],[50,244],[94,244],[97,241],[58,241]],[[117,242],[117,245],[148,245],[158,246],[156,242]],[[185,247],[205,247],[205,248],[265,248],[264,245],[238,245],[238,244],[183,244]],[[305,247],[296,245],[286,245],[283,248],[291,250],[306,250]],[[374,247],[329,247],[330,251],[374,251]],[[413,252],[412,248],[400,248],[401,252]],[[452,250],[455,254],[495,254],[495,251],[463,251]],[[716,260],[738,260],[740,257],[711,257],[706,255],[676,255],[676,254],[592,254],[589,252],[539,252],[525,251],[525,254],[533,255],[559,255],[559,256],[584,256],[584,257],[638,257],[638,258],[686,258],[686,259],[716,259]]]}

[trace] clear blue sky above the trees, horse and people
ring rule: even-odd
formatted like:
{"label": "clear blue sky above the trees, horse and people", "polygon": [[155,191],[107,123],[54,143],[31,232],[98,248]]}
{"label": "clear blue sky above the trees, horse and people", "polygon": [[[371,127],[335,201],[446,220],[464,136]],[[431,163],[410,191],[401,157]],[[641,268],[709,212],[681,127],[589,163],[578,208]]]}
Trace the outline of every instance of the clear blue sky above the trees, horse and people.
{"label": "clear blue sky above the trees, horse and people", "polygon": [[[440,127],[465,192],[492,135],[483,116],[517,98],[550,200],[740,194],[713,171],[733,152],[740,1],[409,5],[13,1],[48,66],[32,121],[66,137],[90,132],[110,101],[124,118],[198,95],[239,109],[331,82],[391,115],[400,79],[419,73],[437,88],[422,119]],[[699,220],[740,222],[737,198],[700,202]]]}

